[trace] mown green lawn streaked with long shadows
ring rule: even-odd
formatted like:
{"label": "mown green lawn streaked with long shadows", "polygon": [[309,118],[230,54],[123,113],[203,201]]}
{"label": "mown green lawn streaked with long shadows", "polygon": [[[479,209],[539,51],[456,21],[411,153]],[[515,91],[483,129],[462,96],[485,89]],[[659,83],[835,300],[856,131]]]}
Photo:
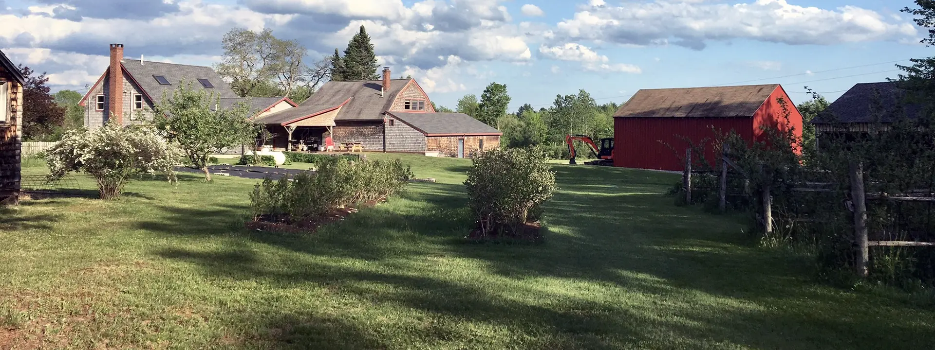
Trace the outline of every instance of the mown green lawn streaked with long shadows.
{"label": "mown green lawn streaked with long shadows", "polygon": [[[0,210],[0,348],[930,349],[935,310],[827,287],[678,175],[555,165],[543,245],[474,245],[469,161],[314,235],[242,229],[254,181]],[[299,164],[301,166],[301,164]],[[38,164],[27,174],[41,174]],[[79,187],[91,188],[86,178]]]}

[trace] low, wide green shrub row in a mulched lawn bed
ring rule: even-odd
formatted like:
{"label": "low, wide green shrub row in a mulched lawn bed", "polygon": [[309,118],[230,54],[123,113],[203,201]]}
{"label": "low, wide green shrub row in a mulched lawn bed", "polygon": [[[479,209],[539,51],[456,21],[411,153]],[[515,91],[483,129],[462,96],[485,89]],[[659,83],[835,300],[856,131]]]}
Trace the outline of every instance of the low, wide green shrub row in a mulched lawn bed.
{"label": "low, wide green shrub row in a mulched lawn bed", "polygon": [[326,157],[314,173],[295,175],[292,181],[269,178],[251,193],[255,217],[282,217],[290,221],[321,217],[356,203],[376,202],[404,189],[413,177],[402,161],[348,161]]}

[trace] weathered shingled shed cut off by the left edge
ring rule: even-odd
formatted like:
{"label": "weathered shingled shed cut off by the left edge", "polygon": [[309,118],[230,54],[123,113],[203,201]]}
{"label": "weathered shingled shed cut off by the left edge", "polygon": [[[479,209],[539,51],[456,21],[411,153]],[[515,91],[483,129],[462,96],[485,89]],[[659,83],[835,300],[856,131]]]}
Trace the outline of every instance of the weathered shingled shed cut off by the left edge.
{"label": "weathered shingled shed cut off by the left edge", "polygon": [[20,69],[0,51],[0,204],[20,199],[24,84]]}

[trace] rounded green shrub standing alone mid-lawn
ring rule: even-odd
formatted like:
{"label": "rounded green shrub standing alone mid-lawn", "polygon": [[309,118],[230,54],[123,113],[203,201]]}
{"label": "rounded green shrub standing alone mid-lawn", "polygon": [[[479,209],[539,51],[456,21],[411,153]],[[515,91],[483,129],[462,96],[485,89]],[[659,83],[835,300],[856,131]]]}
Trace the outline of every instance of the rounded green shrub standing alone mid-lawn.
{"label": "rounded green shrub standing alone mid-lawn", "polygon": [[473,159],[465,186],[486,234],[538,220],[555,190],[555,174],[539,148],[492,149]]}

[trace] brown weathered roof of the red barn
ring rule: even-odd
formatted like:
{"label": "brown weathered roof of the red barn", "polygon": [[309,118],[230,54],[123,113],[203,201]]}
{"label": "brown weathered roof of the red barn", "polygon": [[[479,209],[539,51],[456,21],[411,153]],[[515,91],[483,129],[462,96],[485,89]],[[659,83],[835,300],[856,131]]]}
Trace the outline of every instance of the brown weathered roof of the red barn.
{"label": "brown weathered roof of the red barn", "polygon": [[752,117],[779,84],[643,89],[614,118]]}

